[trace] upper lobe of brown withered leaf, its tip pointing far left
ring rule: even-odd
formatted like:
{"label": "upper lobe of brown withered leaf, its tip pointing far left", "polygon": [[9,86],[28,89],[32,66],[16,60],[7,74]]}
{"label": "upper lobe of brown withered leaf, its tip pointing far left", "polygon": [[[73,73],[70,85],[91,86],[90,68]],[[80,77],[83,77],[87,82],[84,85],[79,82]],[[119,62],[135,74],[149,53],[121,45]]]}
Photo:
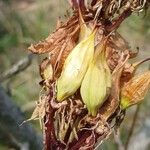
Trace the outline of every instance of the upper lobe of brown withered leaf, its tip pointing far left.
{"label": "upper lobe of brown withered leaf, its tip pointing far left", "polygon": [[[76,38],[75,34],[78,34],[78,15],[73,15],[66,23],[61,25],[56,31],[52,34],[50,34],[45,40],[40,41],[37,44],[31,44],[31,46],[28,48],[33,53],[48,53],[53,50],[60,50],[62,46],[62,41],[64,42],[68,36],[72,36],[72,39],[74,37]],[[74,33],[74,34],[72,34]],[[76,41],[76,39],[74,39]]]}

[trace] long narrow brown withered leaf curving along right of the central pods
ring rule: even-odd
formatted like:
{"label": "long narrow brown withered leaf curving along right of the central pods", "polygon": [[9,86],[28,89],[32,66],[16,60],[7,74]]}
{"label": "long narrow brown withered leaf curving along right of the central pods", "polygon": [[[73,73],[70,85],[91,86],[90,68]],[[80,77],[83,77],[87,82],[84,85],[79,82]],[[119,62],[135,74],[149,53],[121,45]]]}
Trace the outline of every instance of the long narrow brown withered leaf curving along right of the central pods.
{"label": "long narrow brown withered leaf curving along right of the central pods", "polygon": [[118,65],[112,73],[112,88],[110,91],[110,96],[99,110],[99,113],[101,114],[104,121],[107,121],[119,106],[120,77],[128,58],[129,55],[122,53],[118,61]]}

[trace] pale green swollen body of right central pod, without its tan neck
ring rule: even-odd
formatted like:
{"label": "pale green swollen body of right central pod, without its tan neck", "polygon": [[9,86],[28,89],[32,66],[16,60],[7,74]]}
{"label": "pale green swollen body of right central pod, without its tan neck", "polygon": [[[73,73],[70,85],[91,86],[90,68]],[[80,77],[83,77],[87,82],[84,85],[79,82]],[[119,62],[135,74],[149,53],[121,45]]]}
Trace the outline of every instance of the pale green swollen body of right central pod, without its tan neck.
{"label": "pale green swollen body of right central pod, without its tan neck", "polygon": [[106,96],[106,79],[103,66],[91,63],[81,85],[81,96],[89,114],[96,116]]}

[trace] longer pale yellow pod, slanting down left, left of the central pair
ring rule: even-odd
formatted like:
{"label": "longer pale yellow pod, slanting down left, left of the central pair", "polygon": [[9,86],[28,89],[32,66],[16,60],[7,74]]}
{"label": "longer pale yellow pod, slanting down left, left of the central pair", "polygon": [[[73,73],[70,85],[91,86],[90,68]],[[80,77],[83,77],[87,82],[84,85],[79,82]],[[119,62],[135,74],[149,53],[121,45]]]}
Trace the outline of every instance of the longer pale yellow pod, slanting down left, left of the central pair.
{"label": "longer pale yellow pod, slanting down left, left of the central pair", "polygon": [[61,76],[57,80],[57,100],[59,102],[73,95],[80,87],[93,59],[94,37],[95,31],[81,41],[67,57]]}

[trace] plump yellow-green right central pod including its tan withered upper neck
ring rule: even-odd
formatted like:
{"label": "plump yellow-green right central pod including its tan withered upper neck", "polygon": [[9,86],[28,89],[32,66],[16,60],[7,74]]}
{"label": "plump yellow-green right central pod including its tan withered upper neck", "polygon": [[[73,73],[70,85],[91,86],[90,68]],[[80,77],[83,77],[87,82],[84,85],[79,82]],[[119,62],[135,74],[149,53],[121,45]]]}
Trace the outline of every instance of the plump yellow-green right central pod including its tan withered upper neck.
{"label": "plump yellow-green right central pod including its tan withered upper neck", "polygon": [[95,57],[85,74],[81,85],[81,96],[88,112],[96,116],[107,96],[107,88],[111,86],[111,74],[106,63],[105,44],[96,48]]}

